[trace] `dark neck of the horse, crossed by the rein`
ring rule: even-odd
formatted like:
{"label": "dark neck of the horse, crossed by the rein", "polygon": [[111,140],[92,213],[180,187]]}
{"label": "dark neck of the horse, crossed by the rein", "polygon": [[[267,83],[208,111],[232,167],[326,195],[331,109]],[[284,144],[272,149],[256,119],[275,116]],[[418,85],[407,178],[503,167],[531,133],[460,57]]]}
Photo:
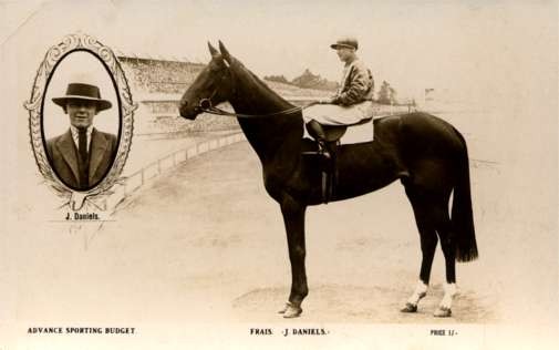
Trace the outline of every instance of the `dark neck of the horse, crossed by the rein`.
{"label": "dark neck of the horse, crossed by the rein", "polygon": [[[235,90],[229,102],[239,114],[265,115],[292,107],[248,72],[237,78]],[[265,166],[294,166],[303,133],[300,114],[239,117],[239,124]]]}

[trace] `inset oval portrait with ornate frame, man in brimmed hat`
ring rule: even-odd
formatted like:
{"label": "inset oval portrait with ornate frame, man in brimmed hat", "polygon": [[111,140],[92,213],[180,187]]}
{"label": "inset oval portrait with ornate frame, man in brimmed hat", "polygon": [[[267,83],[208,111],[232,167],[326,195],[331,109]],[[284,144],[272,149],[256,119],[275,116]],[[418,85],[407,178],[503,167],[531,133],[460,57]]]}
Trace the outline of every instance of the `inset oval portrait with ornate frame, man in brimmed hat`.
{"label": "inset oval portrait with ornate frame, man in brimmed hat", "polygon": [[37,164],[61,196],[81,207],[115,184],[136,105],[111,49],[86,34],[64,38],[46,53],[25,107]]}

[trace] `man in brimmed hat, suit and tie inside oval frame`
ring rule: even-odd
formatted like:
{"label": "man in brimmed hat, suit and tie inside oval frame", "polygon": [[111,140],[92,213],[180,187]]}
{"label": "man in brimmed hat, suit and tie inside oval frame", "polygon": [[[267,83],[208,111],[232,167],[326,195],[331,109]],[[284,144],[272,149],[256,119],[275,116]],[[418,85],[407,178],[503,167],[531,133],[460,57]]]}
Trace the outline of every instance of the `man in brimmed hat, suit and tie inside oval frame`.
{"label": "man in brimmed hat, suit and tie inside oval frame", "polygon": [[62,97],[52,99],[70,119],[70,128],[46,141],[51,166],[69,187],[86,191],[108,172],[117,150],[117,138],[93,127],[93,119],[112,107],[96,85],[71,82]]}

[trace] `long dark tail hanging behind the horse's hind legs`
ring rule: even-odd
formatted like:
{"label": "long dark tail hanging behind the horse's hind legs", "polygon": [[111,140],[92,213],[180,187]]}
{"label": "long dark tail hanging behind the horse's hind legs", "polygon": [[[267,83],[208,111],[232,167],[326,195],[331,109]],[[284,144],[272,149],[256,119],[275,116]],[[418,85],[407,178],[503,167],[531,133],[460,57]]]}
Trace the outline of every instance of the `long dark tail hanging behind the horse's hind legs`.
{"label": "long dark tail hanging behind the horse's hind legs", "polygon": [[455,132],[464,148],[458,159],[458,175],[454,186],[451,220],[456,237],[456,260],[472,261],[477,258],[478,254],[469,186],[468,148],[464,136],[457,130]]}

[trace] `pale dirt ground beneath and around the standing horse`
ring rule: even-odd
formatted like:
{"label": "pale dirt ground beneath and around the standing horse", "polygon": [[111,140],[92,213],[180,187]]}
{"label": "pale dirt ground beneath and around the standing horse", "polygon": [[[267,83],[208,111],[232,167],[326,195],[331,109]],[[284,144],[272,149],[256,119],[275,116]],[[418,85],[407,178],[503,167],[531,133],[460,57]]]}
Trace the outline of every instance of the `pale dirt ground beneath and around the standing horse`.
{"label": "pale dirt ground beneath and around the standing horse", "polygon": [[[470,122],[458,126],[472,158],[497,163],[470,163],[480,258],[457,266],[453,317],[432,317],[443,296],[439,248],[420,311],[398,312],[417,280],[421,250],[411,206],[394,183],[309,208],[310,294],[301,318],[289,322],[553,325],[557,207],[549,199],[551,179],[539,176],[553,173],[552,164],[532,156],[546,140],[534,148],[497,147],[491,128],[467,133],[463,126]],[[246,142],[189,159],[124,204],[100,230],[97,224],[44,226],[22,213],[29,229],[7,233],[6,261],[18,268],[1,267],[11,291],[4,315],[27,320],[24,327],[128,325],[149,332],[146,325],[162,325],[163,338],[164,325],[284,322],[277,310],[291,280],[286,234]]]}

